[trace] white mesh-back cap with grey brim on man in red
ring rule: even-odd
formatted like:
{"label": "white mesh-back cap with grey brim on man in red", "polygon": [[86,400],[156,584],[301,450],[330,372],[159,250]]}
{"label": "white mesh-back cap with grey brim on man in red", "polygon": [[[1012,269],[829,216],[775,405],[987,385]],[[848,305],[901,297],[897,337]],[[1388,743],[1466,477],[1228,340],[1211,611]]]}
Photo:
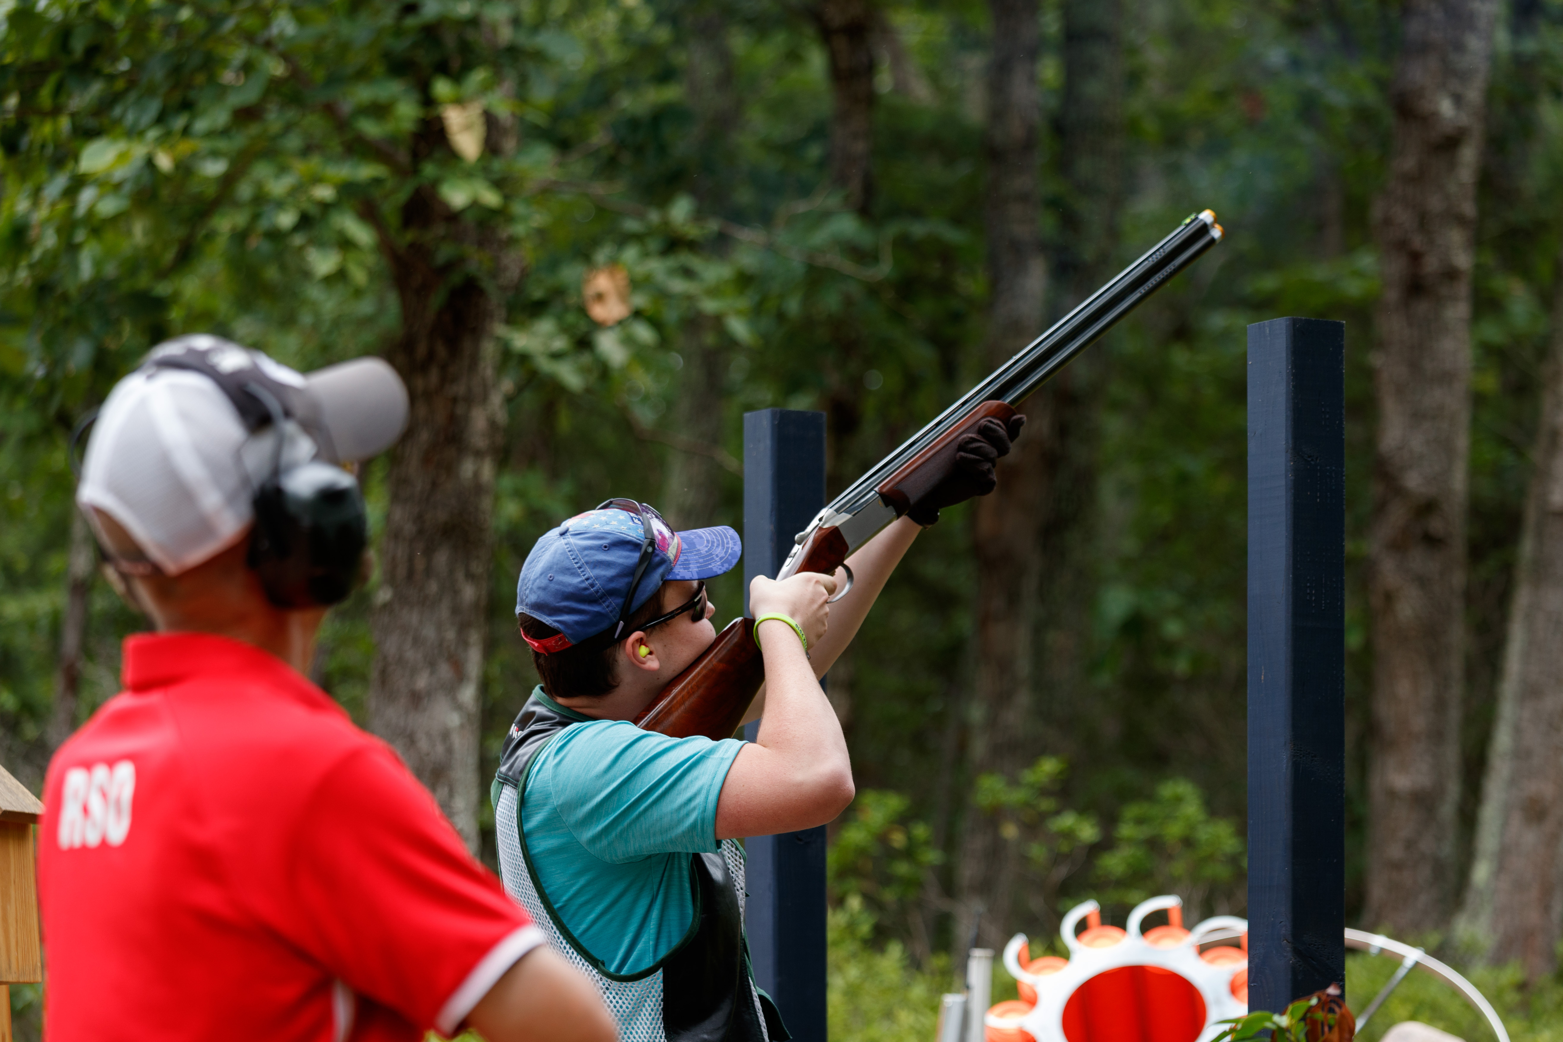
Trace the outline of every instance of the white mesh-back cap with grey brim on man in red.
{"label": "white mesh-back cap with grey brim on man in red", "polygon": [[[314,456],[366,459],[389,448],[406,426],[406,389],[378,358],[302,375],[211,336],[169,341],[148,358],[186,348],[209,350],[217,367],[256,366],[297,392],[283,466]],[[255,517],[255,489],[277,459],[277,433],[266,426],[250,434],[211,378],[144,366],[114,386],[98,412],[77,503],[109,514],[164,573],[178,575],[244,537]]]}

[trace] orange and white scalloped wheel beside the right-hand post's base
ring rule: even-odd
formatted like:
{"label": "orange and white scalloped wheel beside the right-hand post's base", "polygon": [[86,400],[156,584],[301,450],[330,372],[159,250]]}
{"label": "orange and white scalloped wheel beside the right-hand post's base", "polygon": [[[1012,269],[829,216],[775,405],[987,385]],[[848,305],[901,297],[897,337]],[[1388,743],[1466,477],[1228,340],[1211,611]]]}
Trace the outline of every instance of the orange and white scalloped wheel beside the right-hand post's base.
{"label": "orange and white scalloped wheel beside the right-hand post's base", "polygon": [[[1141,930],[1152,912],[1166,925]],[[1075,934],[1080,923],[1085,930]],[[1058,933],[1069,958],[1030,958],[1025,934],[1003,950],[1019,1001],[993,1006],[988,1042],[1210,1042],[1221,1020],[1249,1011],[1249,923],[1216,915],[1183,928],[1183,900],[1153,897],[1124,928],[1102,923],[1096,901],[1077,905]],[[1239,947],[1216,945],[1239,940]]]}

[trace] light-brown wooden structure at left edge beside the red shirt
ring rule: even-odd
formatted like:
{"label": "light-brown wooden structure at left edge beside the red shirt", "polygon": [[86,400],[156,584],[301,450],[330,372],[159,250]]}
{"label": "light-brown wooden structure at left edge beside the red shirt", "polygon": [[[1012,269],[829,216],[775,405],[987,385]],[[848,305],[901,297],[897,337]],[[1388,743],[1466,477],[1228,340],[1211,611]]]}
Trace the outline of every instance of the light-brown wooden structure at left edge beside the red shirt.
{"label": "light-brown wooden structure at left edge beside the red shirt", "polygon": [[0,1042],[11,1042],[9,986],[44,980],[33,847],[42,812],[38,797],[0,767]]}

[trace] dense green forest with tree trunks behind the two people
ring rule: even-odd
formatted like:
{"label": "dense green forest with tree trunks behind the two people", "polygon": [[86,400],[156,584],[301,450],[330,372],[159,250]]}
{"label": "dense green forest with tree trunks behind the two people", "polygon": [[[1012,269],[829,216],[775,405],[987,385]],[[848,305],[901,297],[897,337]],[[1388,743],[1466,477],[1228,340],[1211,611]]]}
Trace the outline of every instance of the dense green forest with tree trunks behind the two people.
{"label": "dense green forest with tree trunks behind the two people", "polygon": [[488,856],[536,536],[610,495],[741,526],[767,406],[827,412],[835,492],[1208,206],[833,670],[835,897],[922,964],[978,906],[1000,945],[1083,897],[1243,912],[1244,327],[1313,316],[1349,919],[1549,976],[1560,87],[1554,0],[0,5],[0,762],[36,790],[117,689],[67,439],[163,337],[408,376],[314,673]]}

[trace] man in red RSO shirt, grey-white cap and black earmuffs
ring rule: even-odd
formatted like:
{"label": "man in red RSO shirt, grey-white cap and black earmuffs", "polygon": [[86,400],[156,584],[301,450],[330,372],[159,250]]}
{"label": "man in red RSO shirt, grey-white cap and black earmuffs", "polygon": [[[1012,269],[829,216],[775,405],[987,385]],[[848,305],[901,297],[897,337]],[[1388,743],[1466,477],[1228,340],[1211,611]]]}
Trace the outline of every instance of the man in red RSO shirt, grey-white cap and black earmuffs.
{"label": "man in red RSO shirt, grey-white cap and black earmuffs", "polygon": [[300,376],[209,336],[105,401],[77,503],[158,633],[125,641],[125,691],[48,767],[52,1042],[613,1039],[428,790],[306,680],[363,564],[330,462],[405,422],[378,359]]}

